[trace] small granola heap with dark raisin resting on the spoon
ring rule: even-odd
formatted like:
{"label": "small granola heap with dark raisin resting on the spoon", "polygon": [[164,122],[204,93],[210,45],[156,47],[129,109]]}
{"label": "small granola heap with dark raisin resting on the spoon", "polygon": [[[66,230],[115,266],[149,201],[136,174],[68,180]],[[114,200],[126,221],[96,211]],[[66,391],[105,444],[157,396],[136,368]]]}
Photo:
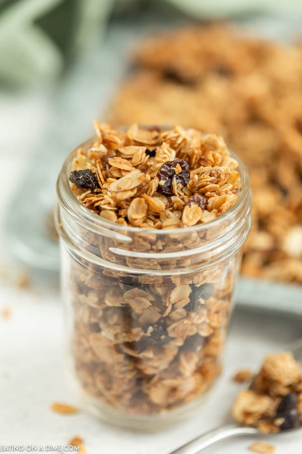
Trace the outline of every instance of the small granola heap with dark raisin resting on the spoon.
{"label": "small granola heap with dark raisin resting on the spoon", "polygon": [[302,424],[302,368],[291,353],[265,358],[250,389],[238,394],[233,416],[263,433],[294,429]]}

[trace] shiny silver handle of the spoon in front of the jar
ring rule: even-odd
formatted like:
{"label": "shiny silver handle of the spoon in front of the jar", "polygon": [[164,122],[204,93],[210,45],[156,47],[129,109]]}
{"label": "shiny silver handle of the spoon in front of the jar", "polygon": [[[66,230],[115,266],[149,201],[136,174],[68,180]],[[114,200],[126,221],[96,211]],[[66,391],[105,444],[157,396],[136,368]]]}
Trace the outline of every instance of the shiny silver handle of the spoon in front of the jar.
{"label": "shiny silver handle of the spoon in front of the jar", "polygon": [[196,454],[201,451],[201,449],[216,443],[216,441],[223,440],[224,438],[238,435],[255,435],[257,433],[259,433],[259,431],[253,427],[240,427],[235,424],[228,424],[200,435],[175,451],[170,452],[170,454]]}

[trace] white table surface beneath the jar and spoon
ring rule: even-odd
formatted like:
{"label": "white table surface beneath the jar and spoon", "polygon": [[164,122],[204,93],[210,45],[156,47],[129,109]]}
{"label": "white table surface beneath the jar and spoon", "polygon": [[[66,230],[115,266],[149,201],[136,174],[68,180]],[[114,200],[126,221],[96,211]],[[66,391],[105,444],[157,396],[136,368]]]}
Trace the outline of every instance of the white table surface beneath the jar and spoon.
{"label": "white table surface beneath the jar and spoon", "polygon": [[[53,413],[54,401],[81,407],[64,377],[64,326],[57,287],[45,276],[36,277],[28,289],[14,285],[22,266],[10,256],[1,229],[6,210],[13,209],[9,202],[15,178],[47,121],[45,102],[41,94],[17,101],[0,94],[0,124],[5,126],[0,137],[0,312],[11,309],[9,318],[0,317],[0,448],[4,444],[65,444],[80,435],[88,454],[167,454],[222,424],[238,390],[232,375],[242,367],[257,369],[266,353],[282,350],[300,337],[301,320],[235,311],[224,372],[214,392],[197,415],[170,430],[134,433],[109,426],[84,410],[68,416]],[[249,452],[247,447],[256,439],[262,437],[224,441],[204,452],[241,454]],[[264,439],[277,447],[277,454],[302,452],[302,431]]]}

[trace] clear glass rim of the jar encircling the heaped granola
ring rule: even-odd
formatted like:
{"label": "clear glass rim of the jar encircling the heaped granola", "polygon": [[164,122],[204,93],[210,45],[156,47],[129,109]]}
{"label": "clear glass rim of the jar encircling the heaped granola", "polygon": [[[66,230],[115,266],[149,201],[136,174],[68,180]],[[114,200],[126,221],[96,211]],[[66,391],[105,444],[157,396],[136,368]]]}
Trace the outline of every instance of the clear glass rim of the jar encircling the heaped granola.
{"label": "clear glass rim of the jar encircling the heaped granola", "polygon": [[69,155],[67,156],[62,165],[56,184],[57,197],[60,204],[62,204],[72,216],[77,215],[78,219],[81,218],[84,221],[86,220],[88,222],[92,222],[94,224],[94,227],[96,228],[99,227],[100,229],[105,228],[114,230],[116,232],[120,232],[122,235],[127,235],[127,232],[140,235],[141,234],[154,235],[155,233],[158,233],[160,235],[171,235],[202,232],[203,230],[207,230],[209,227],[215,226],[220,222],[222,223],[224,220],[231,217],[232,214],[240,211],[240,209],[245,204],[247,198],[250,195],[250,177],[247,167],[242,161],[242,159],[233,150],[228,148],[231,157],[235,158],[238,161],[238,171],[240,174],[240,181],[242,187],[240,189],[238,199],[235,202],[235,204],[231,208],[226,210],[223,214],[216,217],[215,219],[212,219],[208,222],[204,222],[202,224],[196,224],[191,227],[181,227],[176,229],[142,229],[140,227],[132,227],[129,225],[117,224],[116,222],[112,222],[100,216],[99,214],[94,213],[93,211],[89,210],[84,205],[82,205],[78,198],[74,195],[69,184],[69,173],[71,171],[70,164],[73,155],[75,154],[78,148],[82,147],[85,149],[87,145],[93,142],[96,138],[97,137],[93,137],[92,139],[83,142],[77,148],[72,150],[71,153],[69,153]]}

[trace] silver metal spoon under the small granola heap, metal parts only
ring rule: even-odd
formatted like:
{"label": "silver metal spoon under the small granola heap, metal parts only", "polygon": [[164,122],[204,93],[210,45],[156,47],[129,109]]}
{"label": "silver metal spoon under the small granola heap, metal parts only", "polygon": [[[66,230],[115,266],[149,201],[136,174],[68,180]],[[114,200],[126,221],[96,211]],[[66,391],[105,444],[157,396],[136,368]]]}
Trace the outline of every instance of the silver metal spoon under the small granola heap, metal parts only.
{"label": "silver metal spoon under the small granola heap, metal parts only", "polygon": [[[286,346],[287,351],[291,351],[295,357],[302,356],[302,339],[297,339],[291,344]],[[248,387],[248,386],[247,386]],[[302,426],[296,429],[301,429]],[[288,429],[290,431],[296,429]],[[285,431],[284,431],[285,432]],[[277,432],[278,434],[280,432]],[[239,435],[259,435],[261,432],[255,427],[241,426],[238,424],[224,424],[223,426],[212,429],[209,432],[200,435],[178,449],[170,452],[169,454],[197,454],[197,452],[210,446],[217,441],[224,440],[225,438],[235,437]],[[261,434],[262,435],[262,434]]]}

